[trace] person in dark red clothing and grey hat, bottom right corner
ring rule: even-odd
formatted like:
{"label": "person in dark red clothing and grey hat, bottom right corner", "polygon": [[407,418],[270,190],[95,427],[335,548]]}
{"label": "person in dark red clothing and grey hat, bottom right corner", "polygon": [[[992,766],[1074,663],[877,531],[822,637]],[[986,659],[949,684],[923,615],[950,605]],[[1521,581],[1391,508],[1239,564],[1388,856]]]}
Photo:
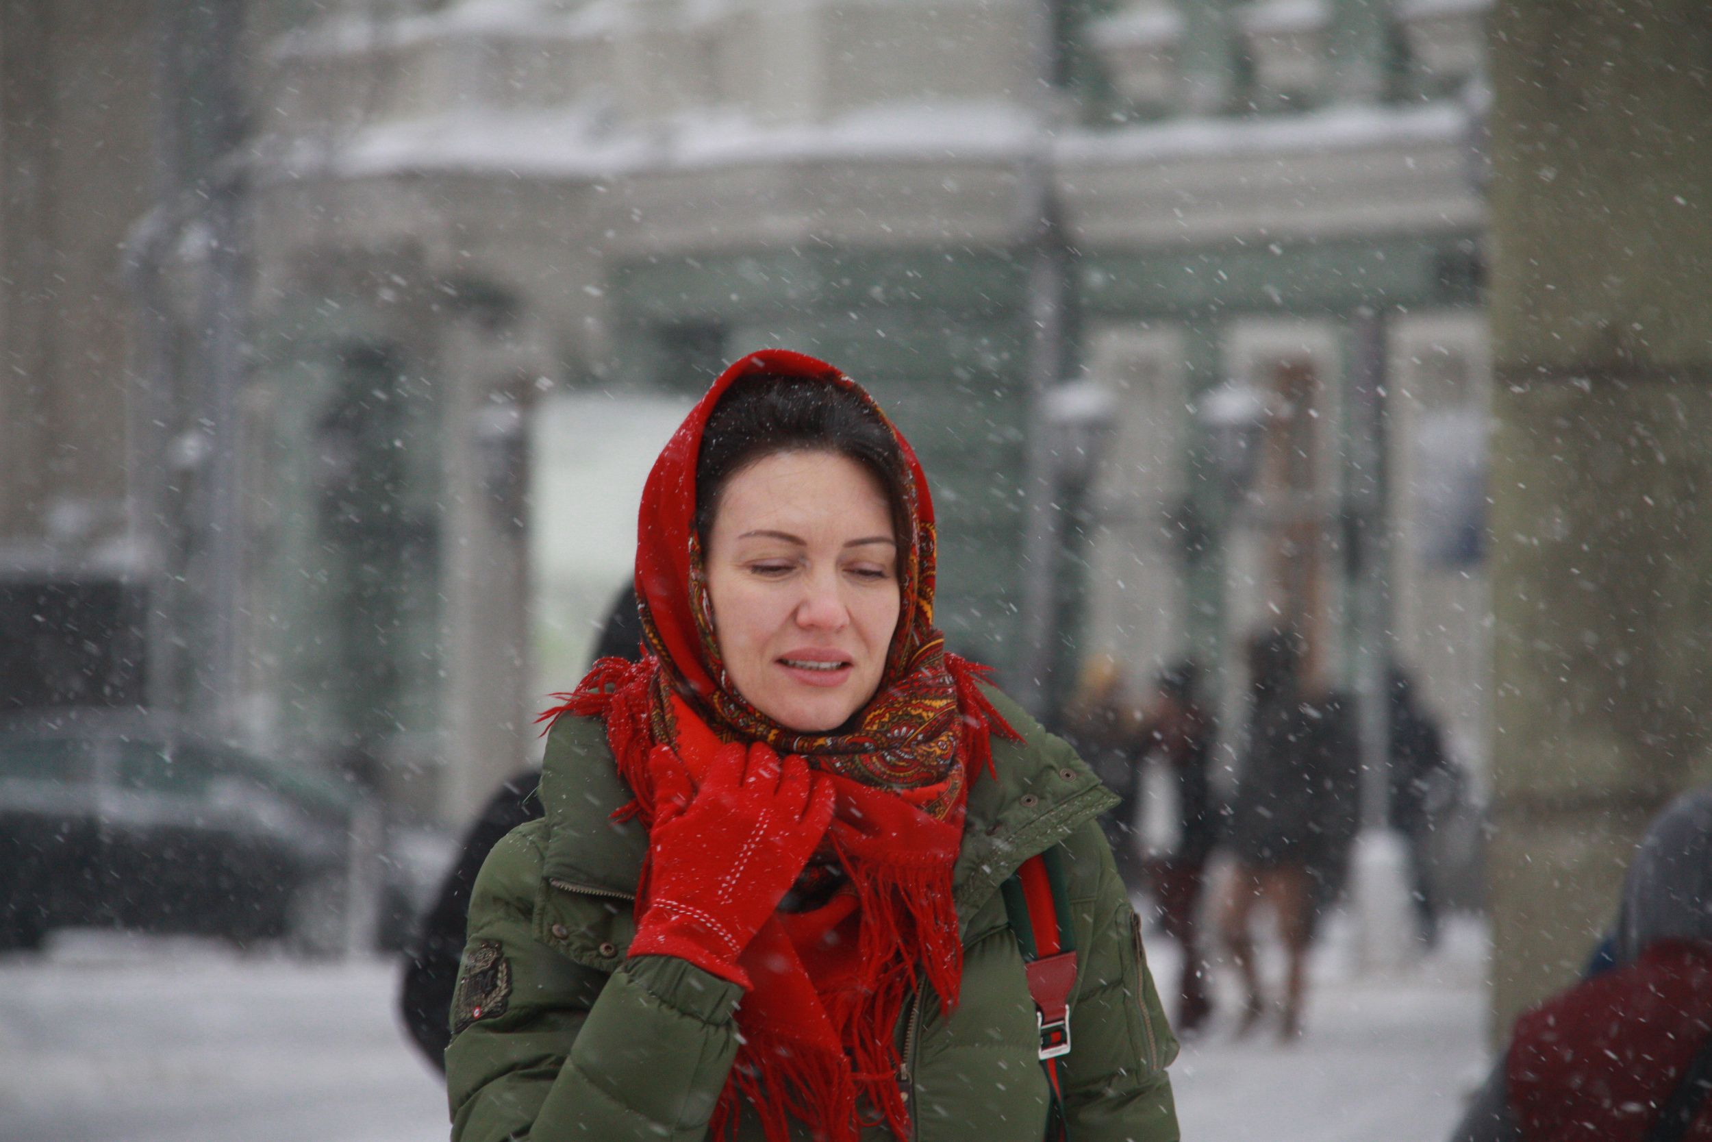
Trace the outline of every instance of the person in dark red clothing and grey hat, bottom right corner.
{"label": "person in dark red clothing and grey hat, bottom right corner", "polygon": [[1452,1142],[1712,1142],[1712,786],[1647,829],[1611,954],[1515,1020]]}

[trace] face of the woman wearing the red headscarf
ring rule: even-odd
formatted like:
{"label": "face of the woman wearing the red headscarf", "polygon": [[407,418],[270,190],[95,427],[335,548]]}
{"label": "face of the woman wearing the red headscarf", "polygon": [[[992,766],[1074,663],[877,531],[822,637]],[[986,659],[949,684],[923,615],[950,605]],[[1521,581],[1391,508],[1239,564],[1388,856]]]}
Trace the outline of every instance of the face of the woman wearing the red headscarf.
{"label": "face of the woman wearing the red headscarf", "polygon": [[873,473],[774,452],[726,481],[704,553],[731,687],[788,729],[844,724],[880,687],[897,627],[897,536]]}

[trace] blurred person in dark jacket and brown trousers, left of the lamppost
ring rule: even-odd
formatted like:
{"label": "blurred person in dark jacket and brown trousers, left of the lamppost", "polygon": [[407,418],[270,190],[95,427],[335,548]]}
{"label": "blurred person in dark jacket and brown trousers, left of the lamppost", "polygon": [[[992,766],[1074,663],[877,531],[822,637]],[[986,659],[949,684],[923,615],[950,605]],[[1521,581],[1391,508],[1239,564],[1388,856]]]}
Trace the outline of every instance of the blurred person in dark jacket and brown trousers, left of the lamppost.
{"label": "blurred person in dark jacket and brown trousers, left of the lamppost", "polygon": [[1239,1032],[1267,1012],[1250,931],[1255,906],[1277,918],[1289,964],[1282,1039],[1301,1031],[1315,868],[1329,859],[1327,822],[1342,812],[1329,776],[1327,709],[1303,693],[1301,659],[1293,632],[1263,632],[1248,644],[1248,741],[1224,837],[1236,866],[1219,904],[1219,935],[1245,993]]}

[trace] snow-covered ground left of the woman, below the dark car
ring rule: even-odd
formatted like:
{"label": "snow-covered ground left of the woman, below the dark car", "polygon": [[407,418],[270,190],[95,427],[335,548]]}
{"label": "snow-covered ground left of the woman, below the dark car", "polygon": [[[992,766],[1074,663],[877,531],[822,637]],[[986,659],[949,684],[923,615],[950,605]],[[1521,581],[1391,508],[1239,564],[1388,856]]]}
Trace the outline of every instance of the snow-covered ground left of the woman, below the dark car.
{"label": "snow-covered ground left of the woman, below the dark car", "polygon": [[392,961],[75,933],[0,959],[3,1142],[423,1142],[445,1096]]}

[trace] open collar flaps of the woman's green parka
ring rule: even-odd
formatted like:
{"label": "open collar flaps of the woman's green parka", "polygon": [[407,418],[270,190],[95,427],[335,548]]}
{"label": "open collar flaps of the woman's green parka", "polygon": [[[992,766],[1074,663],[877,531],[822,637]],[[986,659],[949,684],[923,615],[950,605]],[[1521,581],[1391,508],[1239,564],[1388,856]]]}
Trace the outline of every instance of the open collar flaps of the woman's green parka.
{"label": "open collar flaps of the woman's green parka", "polygon": [[[962,848],[952,866],[960,925],[986,904],[1022,861],[1058,844],[1080,824],[1118,803],[1075,752],[1002,692],[988,699],[1022,741],[993,738],[993,774],[969,786]],[[635,897],[647,834],[613,812],[630,801],[606,731],[589,717],[560,717],[546,745],[541,805],[546,810],[543,873],[558,887]]]}

